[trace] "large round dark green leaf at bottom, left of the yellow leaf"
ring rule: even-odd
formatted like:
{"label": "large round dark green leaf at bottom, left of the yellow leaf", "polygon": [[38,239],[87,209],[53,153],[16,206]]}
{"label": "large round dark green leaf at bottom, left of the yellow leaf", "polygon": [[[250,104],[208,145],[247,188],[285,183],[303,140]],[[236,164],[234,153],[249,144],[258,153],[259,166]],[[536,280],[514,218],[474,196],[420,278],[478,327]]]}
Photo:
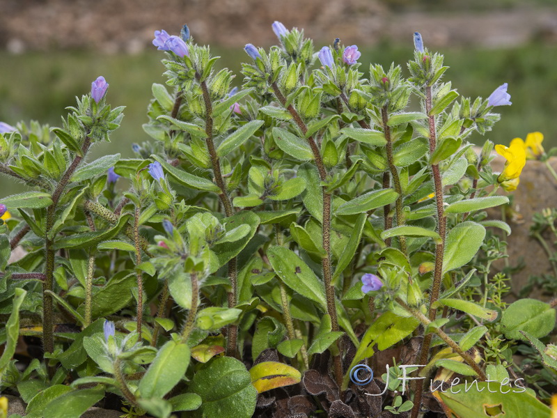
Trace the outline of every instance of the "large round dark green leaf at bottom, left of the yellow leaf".
{"label": "large round dark green leaf at bottom, left of the yellow leaf", "polygon": [[194,374],[189,390],[201,396],[201,407],[192,417],[251,418],[256,410],[257,389],[240,360],[217,357]]}

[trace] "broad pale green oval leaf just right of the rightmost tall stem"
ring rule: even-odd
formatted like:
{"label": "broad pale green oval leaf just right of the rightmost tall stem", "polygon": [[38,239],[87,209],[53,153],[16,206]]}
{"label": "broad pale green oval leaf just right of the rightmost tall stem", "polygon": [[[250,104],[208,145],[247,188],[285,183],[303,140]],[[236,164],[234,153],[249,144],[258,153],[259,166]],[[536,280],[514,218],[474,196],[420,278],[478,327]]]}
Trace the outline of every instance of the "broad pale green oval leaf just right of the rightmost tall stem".
{"label": "broad pale green oval leaf just right of the rightmost tall stem", "polygon": [[476,222],[462,222],[447,235],[443,272],[462,267],[476,255],[483,244],[485,228]]}

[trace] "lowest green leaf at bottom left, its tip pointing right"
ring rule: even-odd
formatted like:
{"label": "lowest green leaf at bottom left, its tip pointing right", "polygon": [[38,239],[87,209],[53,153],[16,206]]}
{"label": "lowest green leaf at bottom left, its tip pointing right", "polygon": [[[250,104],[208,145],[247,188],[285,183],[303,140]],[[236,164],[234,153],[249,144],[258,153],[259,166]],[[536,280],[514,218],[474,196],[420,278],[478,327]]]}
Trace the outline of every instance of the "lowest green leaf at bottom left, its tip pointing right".
{"label": "lowest green leaf at bottom left, its tip pointing right", "polygon": [[43,411],[44,418],[79,418],[104,398],[104,390],[72,390],[52,400]]}

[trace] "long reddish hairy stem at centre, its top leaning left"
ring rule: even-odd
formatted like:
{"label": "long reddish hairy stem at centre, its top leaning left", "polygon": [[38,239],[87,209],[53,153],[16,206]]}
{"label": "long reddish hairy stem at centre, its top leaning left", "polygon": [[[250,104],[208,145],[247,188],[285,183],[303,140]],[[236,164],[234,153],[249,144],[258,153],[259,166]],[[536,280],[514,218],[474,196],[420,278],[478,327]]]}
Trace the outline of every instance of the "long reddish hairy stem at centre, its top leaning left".
{"label": "long reddish hairy stem at centre, its top leaning left", "polygon": [[[306,136],[306,132],[308,132],[308,127],[306,123],[302,120],[301,116],[298,114],[297,110],[292,106],[292,104],[286,105],[286,98],[284,97],[283,93],[281,93],[280,88],[276,83],[272,83],[271,87],[274,91],[274,94],[279,102],[283,105],[283,107],[288,110],[288,112],[292,115],[295,123],[298,125],[299,130],[301,133]],[[321,153],[319,147],[315,143],[315,139],[313,137],[306,138],[308,144],[313,152],[313,157],[315,158],[315,165],[317,166],[317,171],[319,172],[319,176],[321,181],[327,180],[327,170],[325,169],[325,165],[323,164],[323,159],[321,157]],[[327,187],[323,186],[323,222],[322,222],[322,235],[323,235],[323,248],[327,252],[327,256],[322,259],[322,269],[323,269],[323,281],[325,285],[325,297],[327,298],[327,313],[331,316],[331,330],[333,332],[338,331],[338,319],[336,315],[336,306],[335,306],[335,288],[334,285],[331,283],[331,199],[332,196],[330,193],[327,193]],[[338,346],[338,344],[336,343]],[[343,366],[340,360],[340,354],[335,355],[334,358],[334,372],[335,372],[335,379],[338,384],[338,387],[342,386],[343,382]]]}

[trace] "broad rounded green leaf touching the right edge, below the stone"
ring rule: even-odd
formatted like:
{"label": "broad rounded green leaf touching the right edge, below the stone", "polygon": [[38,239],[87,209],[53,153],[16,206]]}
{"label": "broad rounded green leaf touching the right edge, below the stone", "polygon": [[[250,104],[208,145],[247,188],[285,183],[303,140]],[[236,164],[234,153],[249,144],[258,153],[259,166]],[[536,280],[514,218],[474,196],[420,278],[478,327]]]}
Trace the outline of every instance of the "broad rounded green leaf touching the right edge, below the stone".
{"label": "broad rounded green leaf touching the right edge, below the stone", "polygon": [[549,304],[535,299],[512,302],[501,316],[501,330],[508,339],[524,340],[520,331],[535,338],[542,338],[555,327],[556,310]]}

